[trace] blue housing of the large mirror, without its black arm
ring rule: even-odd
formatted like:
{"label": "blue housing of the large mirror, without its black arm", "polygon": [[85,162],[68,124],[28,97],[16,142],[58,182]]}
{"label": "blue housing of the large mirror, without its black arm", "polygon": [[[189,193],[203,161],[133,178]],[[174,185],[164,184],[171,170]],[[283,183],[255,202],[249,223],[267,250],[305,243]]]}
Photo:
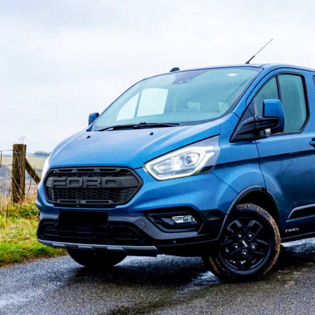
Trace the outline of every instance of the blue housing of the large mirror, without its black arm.
{"label": "blue housing of the large mirror, without its black arm", "polygon": [[284,108],[280,99],[265,99],[262,105],[262,116],[264,118],[275,118],[278,123],[271,126],[271,133],[284,131]]}

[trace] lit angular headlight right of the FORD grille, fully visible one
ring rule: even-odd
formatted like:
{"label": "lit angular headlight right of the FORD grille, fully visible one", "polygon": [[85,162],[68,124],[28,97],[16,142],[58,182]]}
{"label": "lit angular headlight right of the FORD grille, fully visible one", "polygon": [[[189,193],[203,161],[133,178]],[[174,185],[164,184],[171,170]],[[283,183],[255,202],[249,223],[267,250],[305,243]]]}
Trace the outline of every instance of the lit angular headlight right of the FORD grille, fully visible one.
{"label": "lit angular headlight right of the FORD grille, fully visible one", "polygon": [[144,168],[158,181],[185,177],[215,165],[219,153],[219,136],[216,136],[156,158],[145,163]]}

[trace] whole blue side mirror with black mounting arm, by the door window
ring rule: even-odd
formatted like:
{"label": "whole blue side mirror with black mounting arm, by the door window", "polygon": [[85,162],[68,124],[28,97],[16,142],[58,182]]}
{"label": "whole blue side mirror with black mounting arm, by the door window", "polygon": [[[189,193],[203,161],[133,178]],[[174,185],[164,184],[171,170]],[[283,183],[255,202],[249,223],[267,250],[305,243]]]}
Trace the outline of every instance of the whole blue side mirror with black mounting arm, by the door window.
{"label": "whole blue side mirror with black mounting arm, by the door window", "polygon": [[284,130],[284,109],[280,99],[265,99],[262,116],[250,116],[243,120],[234,130],[231,141],[265,138],[266,129],[270,129],[271,133]]}

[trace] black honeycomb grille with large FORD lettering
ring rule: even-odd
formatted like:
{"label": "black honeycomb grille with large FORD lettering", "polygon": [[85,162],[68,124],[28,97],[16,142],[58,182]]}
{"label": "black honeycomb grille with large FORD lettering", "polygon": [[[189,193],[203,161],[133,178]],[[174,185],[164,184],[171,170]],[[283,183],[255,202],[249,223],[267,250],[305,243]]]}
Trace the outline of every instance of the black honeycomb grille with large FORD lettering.
{"label": "black honeycomb grille with large FORD lettering", "polygon": [[113,208],[126,204],[141,186],[141,178],[123,167],[52,169],[44,181],[48,202],[75,208]]}

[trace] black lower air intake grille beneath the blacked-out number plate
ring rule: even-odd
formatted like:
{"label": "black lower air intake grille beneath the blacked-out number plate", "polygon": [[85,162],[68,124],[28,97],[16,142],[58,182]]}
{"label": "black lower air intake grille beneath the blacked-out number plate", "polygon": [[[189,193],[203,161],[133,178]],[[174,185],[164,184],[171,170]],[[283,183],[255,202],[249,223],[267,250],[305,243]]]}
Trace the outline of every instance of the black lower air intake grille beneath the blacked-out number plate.
{"label": "black lower air intake grille beneath the blacked-out number plate", "polygon": [[38,230],[38,238],[43,241],[94,244],[94,245],[147,245],[133,228],[122,224],[107,226],[58,225],[56,222],[44,222]]}

